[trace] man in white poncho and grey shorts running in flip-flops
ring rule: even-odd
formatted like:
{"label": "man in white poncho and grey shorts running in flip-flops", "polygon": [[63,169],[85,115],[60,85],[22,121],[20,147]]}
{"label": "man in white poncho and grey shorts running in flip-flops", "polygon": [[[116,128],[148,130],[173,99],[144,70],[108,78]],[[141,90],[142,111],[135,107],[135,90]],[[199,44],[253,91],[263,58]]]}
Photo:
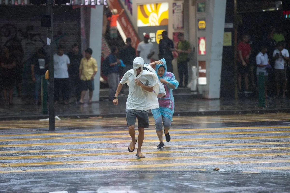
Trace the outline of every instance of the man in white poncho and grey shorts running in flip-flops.
{"label": "man in white poncho and grey shorts running in flip-flops", "polygon": [[[159,61],[154,62],[158,64]],[[126,119],[132,142],[128,147],[129,152],[135,150],[135,123],[138,120],[138,149],[136,156],[144,158],[141,147],[144,140],[144,128],[149,127],[148,111],[159,107],[157,94],[159,91],[158,77],[155,72],[144,70],[144,60],[141,57],[133,61],[133,69],[128,70],[120,81],[113,103],[118,105],[118,95],[123,84],[127,83],[129,95],[126,102]]]}

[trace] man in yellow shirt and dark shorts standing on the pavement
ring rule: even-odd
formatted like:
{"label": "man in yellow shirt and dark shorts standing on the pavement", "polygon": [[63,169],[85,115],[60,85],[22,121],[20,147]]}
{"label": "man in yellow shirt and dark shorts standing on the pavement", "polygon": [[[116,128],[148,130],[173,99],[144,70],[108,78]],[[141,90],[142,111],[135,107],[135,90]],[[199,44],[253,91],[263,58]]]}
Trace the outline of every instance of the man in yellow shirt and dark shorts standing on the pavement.
{"label": "man in yellow shirt and dark shorts standing on the pavement", "polygon": [[88,104],[92,104],[94,77],[98,71],[97,61],[92,57],[92,54],[93,50],[91,48],[87,48],[85,50],[85,57],[81,59],[81,63],[79,65],[79,78],[81,79],[82,87],[81,100],[79,100],[80,104],[84,104],[84,97],[88,89],[90,91],[90,99]]}

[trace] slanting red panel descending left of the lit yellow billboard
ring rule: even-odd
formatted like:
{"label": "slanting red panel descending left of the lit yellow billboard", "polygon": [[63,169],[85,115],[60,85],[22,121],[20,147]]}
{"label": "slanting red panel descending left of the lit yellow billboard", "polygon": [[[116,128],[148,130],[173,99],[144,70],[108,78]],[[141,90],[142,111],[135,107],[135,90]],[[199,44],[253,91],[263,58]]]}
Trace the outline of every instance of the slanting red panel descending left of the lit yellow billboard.
{"label": "slanting red panel descending left of the lit yellow billboard", "polygon": [[[111,10],[117,9],[118,13],[120,13],[122,10],[122,6],[120,5],[118,0],[110,0],[109,7]],[[137,46],[139,44],[139,37],[137,32],[133,29],[133,26],[131,25],[128,16],[125,13],[123,13],[118,17],[118,22],[121,25],[122,30],[124,31],[126,37],[132,39],[132,47],[137,49]]]}

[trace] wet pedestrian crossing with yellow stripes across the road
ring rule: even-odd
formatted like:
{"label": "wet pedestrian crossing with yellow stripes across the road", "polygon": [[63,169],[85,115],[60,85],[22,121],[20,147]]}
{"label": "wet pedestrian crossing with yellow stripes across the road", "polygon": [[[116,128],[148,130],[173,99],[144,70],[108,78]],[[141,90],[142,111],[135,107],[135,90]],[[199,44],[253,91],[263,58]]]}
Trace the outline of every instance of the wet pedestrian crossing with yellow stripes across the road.
{"label": "wet pedestrian crossing with yellow stripes across the road", "polygon": [[[39,121],[16,121],[15,127],[13,121],[8,125],[4,121],[0,122],[0,174],[124,170],[213,172],[217,167],[226,172],[289,172],[290,126],[245,127],[242,124],[252,120],[275,121],[278,117],[289,120],[286,114],[209,119],[177,117],[170,130],[171,141],[165,142],[162,149],[157,149],[159,140],[151,120],[142,148],[146,158],[142,159],[127,151],[131,138],[124,118],[64,120],[53,133],[38,129],[45,128]],[[204,121],[204,125],[195,128],[193,122],[198,120]],[[227,121],[241,124],[206,127],[206,123]],[[67,129],[72,125],[74,129]]]}

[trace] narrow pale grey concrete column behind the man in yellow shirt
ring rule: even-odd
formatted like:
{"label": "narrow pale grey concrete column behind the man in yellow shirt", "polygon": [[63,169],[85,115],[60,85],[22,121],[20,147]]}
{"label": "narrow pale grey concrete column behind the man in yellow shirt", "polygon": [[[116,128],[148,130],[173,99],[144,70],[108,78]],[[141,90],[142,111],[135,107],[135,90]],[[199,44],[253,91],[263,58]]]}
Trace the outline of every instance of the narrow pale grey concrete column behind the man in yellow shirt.
{"label": "narrow pale grey concrete column behind the man in yellow shirt", "polygon": [[103,26],[103,6],[98,5],[91,8],[90,14],[90,48],[93,49],[92,57],[97,60],[98,72],[95,76],[95,90],[93,102],[99,101],[100,92],[100,70],[101,70],[101,51],[102,51],[102,26]]}

